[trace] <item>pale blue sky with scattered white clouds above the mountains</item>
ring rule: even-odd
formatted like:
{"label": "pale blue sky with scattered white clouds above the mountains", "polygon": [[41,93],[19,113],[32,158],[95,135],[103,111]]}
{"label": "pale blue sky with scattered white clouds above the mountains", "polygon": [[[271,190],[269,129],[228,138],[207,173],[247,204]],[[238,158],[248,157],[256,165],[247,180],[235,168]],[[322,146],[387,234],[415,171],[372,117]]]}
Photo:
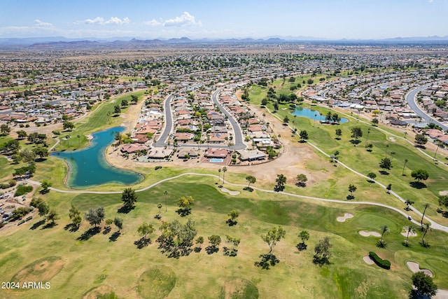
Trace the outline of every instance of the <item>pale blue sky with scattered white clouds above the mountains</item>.
{"label": "pale blue sky with scattered white clouds above the mountains", "polygon": [[447,36],[448,0],[0,0],[0,38]]}

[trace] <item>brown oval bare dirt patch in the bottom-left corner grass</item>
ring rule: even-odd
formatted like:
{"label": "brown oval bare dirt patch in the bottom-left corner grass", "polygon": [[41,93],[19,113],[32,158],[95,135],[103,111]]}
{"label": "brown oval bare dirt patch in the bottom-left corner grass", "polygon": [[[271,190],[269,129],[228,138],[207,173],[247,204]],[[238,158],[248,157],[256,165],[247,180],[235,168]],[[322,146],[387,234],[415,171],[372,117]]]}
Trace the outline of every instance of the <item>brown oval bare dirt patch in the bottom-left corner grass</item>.
{"label": "brown oval bare dirt patch in the bottom-left corner grass", "polygon": [[17,272],[11,281],[49,281],[64,267],[64,261],[57,256],[36,260]]}

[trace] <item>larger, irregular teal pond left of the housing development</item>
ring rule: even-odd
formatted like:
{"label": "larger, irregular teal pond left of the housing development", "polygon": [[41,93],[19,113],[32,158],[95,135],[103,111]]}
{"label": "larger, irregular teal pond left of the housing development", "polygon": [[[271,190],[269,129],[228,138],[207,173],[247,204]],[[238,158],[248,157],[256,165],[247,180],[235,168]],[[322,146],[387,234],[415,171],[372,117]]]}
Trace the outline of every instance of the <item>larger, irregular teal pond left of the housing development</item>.
{"label": "larger, irregular teal pond left of the housing development", "polygon": [[67,185],[71,188],[86,188],[105,183],[130,185],[144,179],[142,174],[113,167],[106,161],[106,147],[112,144],[114,134],[123,132],[124,127],[111,127],[92,134],[90,146],[80,151],[52,153],[69,165]]}

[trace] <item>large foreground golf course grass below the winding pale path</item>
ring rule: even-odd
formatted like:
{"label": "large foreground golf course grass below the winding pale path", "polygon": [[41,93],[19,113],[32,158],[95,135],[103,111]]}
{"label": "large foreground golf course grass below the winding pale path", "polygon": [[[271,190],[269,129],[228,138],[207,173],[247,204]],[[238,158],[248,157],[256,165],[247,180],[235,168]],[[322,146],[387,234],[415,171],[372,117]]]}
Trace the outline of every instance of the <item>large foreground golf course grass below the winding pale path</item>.
{"label": "large foreground golf course grass below the winding pale path", "polygon": [[[379,207],[344,206],[326,202],[313,202],[286,195],[242,192],[238,196],[221,193],[215,179],[199,176],[183,176],[162,183],[155,188],[138,193],[137,207],[128,214],[118,214],[120,195],[76,195],[50,191],[41,195],[50,207],[57,209],[61,219],[52,228],[38,225],[36,216],[14,233],[3,233],[0,244],[2,277],[8,280],[22,277],[27,280],[33,273],[45,274],[50,290],[6,291],[7,298],[80,298],[92,290],[115,293],[118,298],[225,298],[225,294],[253,295],[259,298],[403,298],[410,290],[412,272],[406,261],[412,260],[435,273],[435,282],[447,288],[444,277],[448,263],[446,251],[448,236],[441,232],[429,232],[426,240],[430,247],[423,249],[419,237],[409,238],[411,247],[402,246],[405,237],[400,235],[407,221],[393,211]],[[168,211],[162,208],[162,221],[187,218],[196,222],[197,236],[206,240],[200,253],[194,251],[179,259],[167,258],[154,242],[160,234],[152,235],[152,244],[137,249],[137,227],[144,221],[157,229],[160,221],[157,204],[165,205],[165,190],[169,190]],[[241,188],[242,190],[242,188]],[[192,214],[181,217],[176,214],[176,200],[183,195],[193,195],[195,205]],[[75,204],[82,212],[90,207],[103,205],[106,218],[124,219],[118,238],[111,238],[116,228],[87,240],[78,239],[89,225],[84,222],[76,232],[64,229],[69,223],[68,209]],[[237,225],[228,226],[228,211],[237,209]],[[354,214],[346,222],[336,221],[345,212]],[[255,267],[258,256],[269,248],[260,235],[274,225],[282,225],[286,238],[274,247],[280,263],[269,270]],[[388,225],[391,232],[384,236],[388,246],[379,249],[377,237],[362,237],[359,230],[379,231],[380,225]],[[300,242],[297,235],[308,230],[311,237],[308,249],[297,251]],[[207,254],[209,235],[221,235],[223,242],[218,253]],[[236,257],[223,256],[225,235],[241,238]],[[333,245],[330,265],[318,267],[312,261],[314,245],[318,239],[330,237]],[[369,251],[391,261],[391,270],[363,261]],[[36,265],[43,265],[38,270]],[[62,267],[61,267],[62,265]],[[158,280],[163,278],[162,280]],[[148,294],[151,286],[155,291]],[[323,287],[325,286],[325,287]],[[101,292],[100,292],[101,293]],[[241,297],[236,297],[241,298]],[[243,297],[244,298],[244,297]]]}

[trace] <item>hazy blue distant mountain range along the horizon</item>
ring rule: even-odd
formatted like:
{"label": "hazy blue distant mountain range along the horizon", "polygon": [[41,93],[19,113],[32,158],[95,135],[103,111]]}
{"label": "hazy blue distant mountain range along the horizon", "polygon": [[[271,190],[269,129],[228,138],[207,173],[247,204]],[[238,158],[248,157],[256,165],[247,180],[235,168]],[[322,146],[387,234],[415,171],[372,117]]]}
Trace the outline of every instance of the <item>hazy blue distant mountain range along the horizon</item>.
{"label": "hazy blue distant mountain range along the horizon", "polygon": [[116,46],[163,46],[175,44],[201,43],[448,43],[448,36],[395,37],[393,39],[320,39],[312,36],[269,36],[266,39],[135,39],[132,37],[116,37],[109,39],[83,38],[67,39],[63,36],[1,38],[0,46],[25,46],[28,48],[110,48]]}

